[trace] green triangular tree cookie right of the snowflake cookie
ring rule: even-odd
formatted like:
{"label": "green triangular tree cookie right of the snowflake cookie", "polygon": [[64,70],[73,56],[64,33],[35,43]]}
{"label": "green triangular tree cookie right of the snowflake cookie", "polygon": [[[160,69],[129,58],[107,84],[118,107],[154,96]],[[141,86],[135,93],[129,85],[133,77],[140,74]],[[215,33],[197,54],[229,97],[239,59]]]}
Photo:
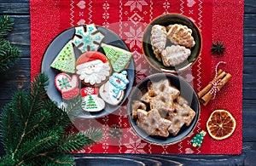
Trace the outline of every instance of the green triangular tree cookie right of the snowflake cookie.
{"label": "green triangular tree cookie right of the snowflake cookie", "polygon": [[131,60],[131,52],[105,43],[102,43],[102,49],[110,60],[114,72],[121,72],[128,66]]}

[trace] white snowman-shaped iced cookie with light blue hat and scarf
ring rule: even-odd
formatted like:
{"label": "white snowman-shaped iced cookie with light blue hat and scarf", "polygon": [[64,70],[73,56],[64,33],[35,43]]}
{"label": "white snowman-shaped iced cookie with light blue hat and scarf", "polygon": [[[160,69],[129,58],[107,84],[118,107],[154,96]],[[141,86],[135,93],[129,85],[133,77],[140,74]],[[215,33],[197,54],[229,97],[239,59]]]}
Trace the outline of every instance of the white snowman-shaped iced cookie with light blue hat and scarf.
{"label": "white snowman-shaped iced cookie with light blue hat and scarf", "polygon": [[100,88],[100,95],[110,105],[118,105],[125,96],[126,85],[129,83],[127,72],[114,72],[108,82]]}

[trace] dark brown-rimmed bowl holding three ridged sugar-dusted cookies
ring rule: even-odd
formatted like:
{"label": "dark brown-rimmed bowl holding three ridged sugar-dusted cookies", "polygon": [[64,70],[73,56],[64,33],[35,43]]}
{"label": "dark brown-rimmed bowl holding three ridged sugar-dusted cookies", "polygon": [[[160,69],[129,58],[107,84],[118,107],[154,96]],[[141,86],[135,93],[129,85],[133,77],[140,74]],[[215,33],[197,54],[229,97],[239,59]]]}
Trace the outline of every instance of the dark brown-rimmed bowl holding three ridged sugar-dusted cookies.
{"label": "dark brown-rimmed bowl holding three ridged sugar-dusted cookies", "polygon": [[[177,66],[164,66],[162,62],[160,62],[155,58],[154,51],[152,49],[152,45],[150,41],[151,29],[152,29],[152,26],[154,25],[169,26],[171,24],[181,24],[183,26],[188,26],[193,31],[192,36],[194,37],[194,40],[195,40],[195,46],[190,49],[191,54],[189,58],[185,60],[183,63]],[[167,42],[167,45],[169,45],[168,42]],[[159,17],[156,17],[154,20],[152,20],[148,24],[148,26],[146,27],[143,33],[143,54],[150,66],[153,66],[155,69],[162,72],[177,73],[177,72],[182,72],[188,69],[193,64],[195,64],[195,61],[201,55],[201,49],[202,49],[201,31],[192,20],[190,20],[188,17],[186,17],[183,14],[160,15]]]}

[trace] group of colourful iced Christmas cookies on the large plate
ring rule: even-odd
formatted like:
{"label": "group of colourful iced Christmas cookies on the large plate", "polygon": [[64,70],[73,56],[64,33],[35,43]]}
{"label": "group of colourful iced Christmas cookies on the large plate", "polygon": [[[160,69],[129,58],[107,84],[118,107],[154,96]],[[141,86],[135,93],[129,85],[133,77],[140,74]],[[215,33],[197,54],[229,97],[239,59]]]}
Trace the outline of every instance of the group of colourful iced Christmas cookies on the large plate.
{"label": "group of colourful iced Christmas cookies on the large plate", "polygon": [[81,95],[81,107],[87,112],[100,112],[106,104],[119,105],[129,83],[125,69],[131,52],[102,43],[105,35],[94,24],[74,29],[73,38],[50,65],[61,72],[55,76],[55,87],[64,100]]}

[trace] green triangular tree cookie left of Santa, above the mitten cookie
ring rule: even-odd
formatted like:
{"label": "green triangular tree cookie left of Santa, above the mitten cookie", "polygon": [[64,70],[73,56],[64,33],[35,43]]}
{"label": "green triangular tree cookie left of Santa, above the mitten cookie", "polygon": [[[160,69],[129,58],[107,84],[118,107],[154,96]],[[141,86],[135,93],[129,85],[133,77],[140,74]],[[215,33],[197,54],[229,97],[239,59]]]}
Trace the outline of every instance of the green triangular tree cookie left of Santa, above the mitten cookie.
{"label": "green triangular tree cookie left of Santa, above the mitten cookie", "polygon": [[69,41],[57,54],[55,60],[51,63],[51,67],[61,72],[75,73],[75,54],[73,52],[72,42]]}

